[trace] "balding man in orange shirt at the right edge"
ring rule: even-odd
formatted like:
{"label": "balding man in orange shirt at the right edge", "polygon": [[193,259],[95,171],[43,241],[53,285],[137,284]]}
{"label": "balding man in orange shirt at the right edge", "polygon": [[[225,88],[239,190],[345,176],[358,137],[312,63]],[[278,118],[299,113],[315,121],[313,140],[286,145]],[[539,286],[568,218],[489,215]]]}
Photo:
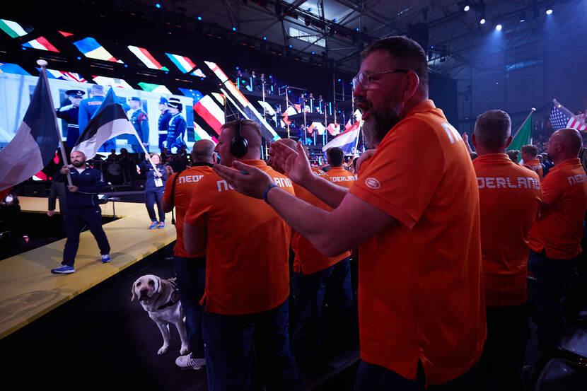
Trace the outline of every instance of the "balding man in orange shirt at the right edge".
{"label": "balding man in orange shirt at the right edge", "polygon": [[533,279],[528,288],[542,361],[556,354],[566,323],[566,283],[581,253],[587,211],[587,175],[577,157],[581,144],[575,129],[550,136],[547,149],[554,167],[542,180],[540,219],[530,230],[528,272]]}

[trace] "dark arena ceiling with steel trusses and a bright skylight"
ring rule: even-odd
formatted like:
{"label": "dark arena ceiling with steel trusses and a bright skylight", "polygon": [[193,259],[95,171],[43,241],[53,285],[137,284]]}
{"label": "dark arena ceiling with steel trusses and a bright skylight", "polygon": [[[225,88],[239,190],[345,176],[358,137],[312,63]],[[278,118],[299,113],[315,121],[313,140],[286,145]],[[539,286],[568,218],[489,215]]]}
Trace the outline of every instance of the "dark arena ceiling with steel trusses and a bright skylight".
{"label": "dark arena ceiling with steel trusses and a bright skylight", "polygon": [[[471,52],[477,40],[491,33],[496,24],[504,23],[504,34],[509,35],[504,50],[511,46],[511,38],[513,45],[528,51],[540,40],[535,33],[547,8],[579,2],[140,0],[134,4],[226,29],[237,40],[264,40],[267,45],[279,45],[294,55],[313,56],[316,61],[349,72],[358,69],[358,54],[366,43],[388,35],[422,35],[428,30],[426,49],[431,69],[458,78],[467,67],[479,66]],[[465,6],[469,6],[468,11]],[[484,25],[481,18],[486,20]]]}

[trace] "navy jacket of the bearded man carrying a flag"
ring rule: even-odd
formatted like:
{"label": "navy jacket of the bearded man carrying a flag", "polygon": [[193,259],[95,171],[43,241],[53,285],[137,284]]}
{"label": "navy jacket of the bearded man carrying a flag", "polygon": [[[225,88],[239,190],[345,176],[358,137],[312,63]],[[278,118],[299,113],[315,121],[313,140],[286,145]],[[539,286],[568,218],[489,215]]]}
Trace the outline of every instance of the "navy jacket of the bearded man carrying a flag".
{"label": "navy jacket of the bearded man carrying a flag", "polygon": [[[86,168],[81,173],[78,173],[75,167],[71,167],[71,183],[78,187],[77,192],[70,192],[66,188],[65,194],[67,199],[67,209],[78,209],[86,206],[97,206],[98,193],[105,189],[104,178],[100,170],[95,168]],[[56,180],[63,181],[67,186],[67,175],[59,173]]]}

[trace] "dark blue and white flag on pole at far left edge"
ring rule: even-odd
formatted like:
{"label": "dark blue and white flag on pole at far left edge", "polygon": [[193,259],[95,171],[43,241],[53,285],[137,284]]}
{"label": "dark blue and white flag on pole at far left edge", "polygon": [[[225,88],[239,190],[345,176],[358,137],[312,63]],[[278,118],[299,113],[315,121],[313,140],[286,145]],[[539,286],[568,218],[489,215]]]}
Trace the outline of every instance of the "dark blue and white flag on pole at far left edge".
{"label": "dark blue and white flag on pole at far left edge", "polygon": [[0,151],[0,190],[32,177],[53,158],[59,144],[59,131],[53,103],[42,69],[16,135]]}

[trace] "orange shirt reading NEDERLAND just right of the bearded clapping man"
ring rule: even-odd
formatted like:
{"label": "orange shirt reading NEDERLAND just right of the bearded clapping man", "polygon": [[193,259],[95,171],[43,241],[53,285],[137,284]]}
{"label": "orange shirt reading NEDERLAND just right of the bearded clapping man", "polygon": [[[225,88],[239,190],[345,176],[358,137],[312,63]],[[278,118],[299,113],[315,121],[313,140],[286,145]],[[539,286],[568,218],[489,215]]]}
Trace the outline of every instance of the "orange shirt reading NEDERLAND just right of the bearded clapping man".
{"label": "orange shirt reading NEDERLAND just right of the bearded clapping man", "polygon": [[542,202],[540,179],[505,153],[473,161],[479,187],[485,305],[519,305],[528,298],[528,232]]}

